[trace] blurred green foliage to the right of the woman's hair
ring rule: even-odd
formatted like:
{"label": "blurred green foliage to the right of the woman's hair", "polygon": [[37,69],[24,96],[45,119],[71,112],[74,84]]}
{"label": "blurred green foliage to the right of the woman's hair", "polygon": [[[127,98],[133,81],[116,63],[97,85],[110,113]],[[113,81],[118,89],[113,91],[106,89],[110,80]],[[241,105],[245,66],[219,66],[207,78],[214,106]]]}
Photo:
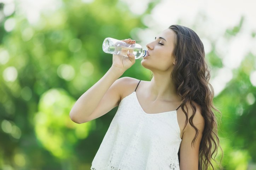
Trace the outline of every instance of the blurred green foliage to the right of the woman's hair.
{"label": "blurred green foliage to the right of the woman's hair", "polygon": [[225,153],[223,165],[227,169],[248,169],[249,162],[256,162],[256,87],[250,81],[254,70],[256,59],[249,53],[240,67],[233,70],[233,79],[215,97],[223,114],[220,136]]}

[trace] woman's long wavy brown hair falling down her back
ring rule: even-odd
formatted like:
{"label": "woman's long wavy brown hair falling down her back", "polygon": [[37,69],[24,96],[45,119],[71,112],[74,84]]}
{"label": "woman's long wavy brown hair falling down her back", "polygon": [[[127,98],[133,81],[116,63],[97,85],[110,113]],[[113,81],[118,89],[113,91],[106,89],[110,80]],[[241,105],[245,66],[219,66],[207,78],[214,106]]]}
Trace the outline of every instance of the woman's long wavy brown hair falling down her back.
{"label": "woman's long wavy brown hair falling down her back", "polygon": [[[178,95],[182,98],[181,108],[186,115],[186,123],[196,130],[196,135],[192,141],[195,142],[198,136],[198,129],[193,125],[193,117],[196,113],[196,102],[201,107],[202,116],[205,120],[202,140],[199,146],[198,170],[206,170],[210,166],[214,169],[212,160],[215,160],[217,149],[220,147],[219,137],[217,135],[217,122],[213,110],[221,112],[213,105],[214,89],[209,83],[210,71],[204,60],[204,45],[196,32],[188,27],[181,25],[171,25],[169,29],[175,32],[175,47],[173,56],[175,57],[175,65],[171,73]],[[193,102],[192,102],[193,101]],[[186,103],[189,102],[193,114],[188,120],[188,114],[184,109]],[[184,127],[185,127],[184,126]],[[223,151],[221,149],[223,157]],[[215,156],[213,157],[213,155]],[[178,156],[180,157],[179,153]],[[221,167],[220,160],[220,169]],[[180,160],[179,160],[180,162]]]}

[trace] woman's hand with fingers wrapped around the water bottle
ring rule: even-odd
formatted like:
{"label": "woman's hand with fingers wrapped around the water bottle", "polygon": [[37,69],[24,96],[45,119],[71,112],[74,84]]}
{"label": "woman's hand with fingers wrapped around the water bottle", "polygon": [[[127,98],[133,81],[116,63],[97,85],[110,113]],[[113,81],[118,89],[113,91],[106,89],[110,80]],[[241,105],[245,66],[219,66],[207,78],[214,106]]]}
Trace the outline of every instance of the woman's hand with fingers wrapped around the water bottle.
{"label": "woman's hand with fingers wrapped around the water bottle", "polygon": [[[132,39],[124,39],[122,40],[129,44],[136,44],[135,40]],[[123,55],[116,55],[113,54],[113,62],[112,66],[113,68],[120,70],[121,72],[126,71],[128,68],[130,68],[135,63],[135,55],[133,54],[132,49],[124,49],[121,52],[122,54],[127,54],[128,57],[125,57]]]}

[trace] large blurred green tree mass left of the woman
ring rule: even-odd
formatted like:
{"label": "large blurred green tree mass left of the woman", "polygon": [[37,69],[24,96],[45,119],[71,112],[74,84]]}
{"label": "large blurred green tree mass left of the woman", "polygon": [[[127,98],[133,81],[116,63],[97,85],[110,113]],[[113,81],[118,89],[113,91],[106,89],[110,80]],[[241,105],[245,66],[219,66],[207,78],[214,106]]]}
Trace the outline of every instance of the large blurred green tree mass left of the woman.
{"label": "large blurred green tree mass left of the woman", "polygon": [[[43,11],[36,24],[16,13],[2,20],[0,167],[89,169],[111,115],[78,125],[69,111],[112,64],[104,38],[130,38],[144,27],[140,17],[117,0],[76,0]],[[8,20],[15,22],[10,32]]]}

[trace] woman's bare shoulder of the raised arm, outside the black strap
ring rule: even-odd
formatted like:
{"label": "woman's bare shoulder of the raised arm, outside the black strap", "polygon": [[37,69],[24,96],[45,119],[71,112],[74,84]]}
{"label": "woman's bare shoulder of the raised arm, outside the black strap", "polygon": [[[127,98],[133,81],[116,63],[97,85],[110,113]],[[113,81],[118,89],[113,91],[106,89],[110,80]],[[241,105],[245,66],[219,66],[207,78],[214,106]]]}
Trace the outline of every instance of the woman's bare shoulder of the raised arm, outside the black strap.
{"label": "woman's bare shoulder of the raised arm, outside the black strap", "polygon": [[140,80],[132,77],[121,77],[118,79],[118,88],[120,92],[120,101],[127,95],[134,92]]}

